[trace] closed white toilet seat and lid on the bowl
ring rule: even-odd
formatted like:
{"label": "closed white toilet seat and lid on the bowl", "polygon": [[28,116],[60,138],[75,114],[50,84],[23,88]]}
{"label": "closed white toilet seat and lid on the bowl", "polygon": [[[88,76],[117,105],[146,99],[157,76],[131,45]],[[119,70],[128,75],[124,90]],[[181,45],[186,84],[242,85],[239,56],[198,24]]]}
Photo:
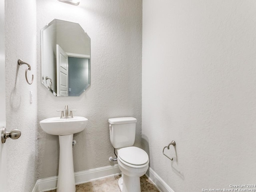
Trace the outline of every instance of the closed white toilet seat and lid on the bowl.
{"label": "closed white toilet seat and lid on the bowl", "polygon": [[125,147],[118,150],[118,159],[123,164],[132,168],[143,168],[148,166],[148,154],[138,147]]}

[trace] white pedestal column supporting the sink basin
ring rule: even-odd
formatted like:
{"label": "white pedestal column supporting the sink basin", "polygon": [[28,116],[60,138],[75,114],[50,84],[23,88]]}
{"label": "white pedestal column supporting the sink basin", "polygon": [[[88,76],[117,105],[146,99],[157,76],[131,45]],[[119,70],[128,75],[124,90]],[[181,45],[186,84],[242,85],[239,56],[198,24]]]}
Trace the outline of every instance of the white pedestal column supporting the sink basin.
{"label": "white pedestal column supporting the sink basin", "polygon": [[73,162],[73,134],[59,135],[60,160],[57,192],[75,192],[75,176]]}

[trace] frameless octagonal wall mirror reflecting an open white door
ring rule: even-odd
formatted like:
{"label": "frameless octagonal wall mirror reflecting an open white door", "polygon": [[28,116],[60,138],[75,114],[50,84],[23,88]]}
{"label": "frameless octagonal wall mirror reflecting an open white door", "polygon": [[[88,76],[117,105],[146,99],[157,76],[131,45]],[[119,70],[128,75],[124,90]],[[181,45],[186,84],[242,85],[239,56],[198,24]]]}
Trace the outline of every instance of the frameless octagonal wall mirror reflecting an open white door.
{"label": "frameless octagonal wall mirror reflecting an open white door", "polygon": [[90,37],[78,23],[54,19],[41,30],[41,82],[54,96],[90,86]]}

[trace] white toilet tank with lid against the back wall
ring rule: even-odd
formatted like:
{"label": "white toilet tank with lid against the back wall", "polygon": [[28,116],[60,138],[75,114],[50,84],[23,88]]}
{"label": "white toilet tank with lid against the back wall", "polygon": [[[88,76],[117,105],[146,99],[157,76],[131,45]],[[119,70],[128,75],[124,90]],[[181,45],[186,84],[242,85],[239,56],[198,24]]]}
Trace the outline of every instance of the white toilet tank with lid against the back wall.
{"label": "white toilet tank with lid against the back wall", "polygon": [[129,147],[134,144],[136,134],[136,122],[134,117],[110,118],[109,135],[114,148]]}

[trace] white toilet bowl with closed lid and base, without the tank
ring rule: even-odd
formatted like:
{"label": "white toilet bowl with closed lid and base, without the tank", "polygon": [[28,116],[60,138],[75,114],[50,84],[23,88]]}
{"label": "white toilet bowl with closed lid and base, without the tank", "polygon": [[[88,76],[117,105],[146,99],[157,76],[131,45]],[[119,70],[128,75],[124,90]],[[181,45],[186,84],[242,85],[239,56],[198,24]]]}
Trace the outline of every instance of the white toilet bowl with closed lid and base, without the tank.
{"label": "white toilet bowl with closed lid and base, without the tank", "polygon": [[140,192],[140,177],[148,170],[148,154],[138,147],[118,150],[118,166],[122,177],[118,180],[121,192]]}

